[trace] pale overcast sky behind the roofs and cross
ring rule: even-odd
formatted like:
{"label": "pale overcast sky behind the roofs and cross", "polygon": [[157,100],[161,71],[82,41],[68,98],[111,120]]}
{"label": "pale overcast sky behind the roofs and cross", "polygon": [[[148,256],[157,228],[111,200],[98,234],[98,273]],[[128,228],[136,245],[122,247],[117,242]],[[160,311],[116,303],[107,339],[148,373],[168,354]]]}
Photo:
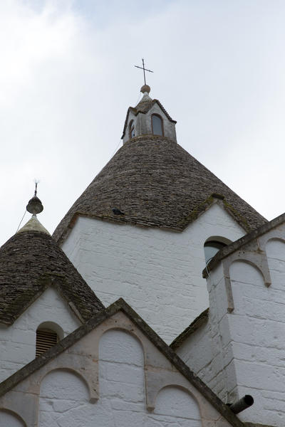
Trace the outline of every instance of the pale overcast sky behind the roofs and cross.
{"label": "pale overcast sky behind the roofs and cross", "polygon": [[0,244],[34,178],[53,232],[112,157],[141,58],[179,144],[266,218],[283,213],[284,22],[284,0],[1,0]]}

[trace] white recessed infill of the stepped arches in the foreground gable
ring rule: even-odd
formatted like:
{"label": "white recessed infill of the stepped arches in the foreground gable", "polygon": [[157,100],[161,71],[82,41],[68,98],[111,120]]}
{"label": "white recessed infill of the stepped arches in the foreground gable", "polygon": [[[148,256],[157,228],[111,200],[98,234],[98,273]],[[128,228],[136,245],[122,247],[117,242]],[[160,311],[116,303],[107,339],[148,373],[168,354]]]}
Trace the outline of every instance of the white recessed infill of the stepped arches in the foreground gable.
{"label": "white recessed infill of the stepped arches in the foreground gable", "polygon": [[202,427],[195,400],[174,386],[162,389],[155,411],[147,411],[142,347],[120,330],[100,339],[99,390],[98,402],[90,404],[81,378],[71,371],[51,371],[41,384],[39,426]]}

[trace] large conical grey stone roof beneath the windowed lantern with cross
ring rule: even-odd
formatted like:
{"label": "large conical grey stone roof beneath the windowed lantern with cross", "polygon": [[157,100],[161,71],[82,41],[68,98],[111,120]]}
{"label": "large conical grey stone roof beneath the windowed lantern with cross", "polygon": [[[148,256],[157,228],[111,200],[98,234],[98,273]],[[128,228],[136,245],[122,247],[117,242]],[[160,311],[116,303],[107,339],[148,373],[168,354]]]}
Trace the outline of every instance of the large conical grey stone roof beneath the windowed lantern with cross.
{"label": "large conical grey stone roof beneath the windowed lantern with cross", "polygon": [[[135,137],[95,177],[53,237],[61,243],[78,215],[182,231],[212,203],[213,193],[224,196],[225,209],[245,231],[266,222],[176,142],[157,135]],[[115,216],[113,208],[125,215]]]}

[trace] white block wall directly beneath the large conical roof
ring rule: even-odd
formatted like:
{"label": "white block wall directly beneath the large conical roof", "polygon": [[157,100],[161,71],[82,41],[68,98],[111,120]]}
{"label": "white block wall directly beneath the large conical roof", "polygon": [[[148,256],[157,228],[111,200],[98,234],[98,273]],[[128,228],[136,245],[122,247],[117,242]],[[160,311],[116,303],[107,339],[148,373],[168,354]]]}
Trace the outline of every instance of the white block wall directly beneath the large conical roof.
{"label": "white block wall directly beneath the large conical roof", "polygon": [[172,342],[209,305],[202,278],[204,241],[243,235],[217,203],[182,233],[81,217],[63,251],[105,305],[123,297]]}

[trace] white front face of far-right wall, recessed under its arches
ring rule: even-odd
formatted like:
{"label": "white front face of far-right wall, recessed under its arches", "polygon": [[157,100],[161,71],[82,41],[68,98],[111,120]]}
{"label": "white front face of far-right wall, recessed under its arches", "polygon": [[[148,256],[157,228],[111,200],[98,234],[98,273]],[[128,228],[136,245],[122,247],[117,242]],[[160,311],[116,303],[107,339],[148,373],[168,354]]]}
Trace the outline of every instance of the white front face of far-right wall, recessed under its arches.
{"label": "white front face of far-right wall, recessed under its arches", "polygon": [[234,315],[229,316],[236,393],[252,394],[244,421],[283,426],[285,413],[285,243],[266,245],[271,285],[251,265],[230,270]]}

